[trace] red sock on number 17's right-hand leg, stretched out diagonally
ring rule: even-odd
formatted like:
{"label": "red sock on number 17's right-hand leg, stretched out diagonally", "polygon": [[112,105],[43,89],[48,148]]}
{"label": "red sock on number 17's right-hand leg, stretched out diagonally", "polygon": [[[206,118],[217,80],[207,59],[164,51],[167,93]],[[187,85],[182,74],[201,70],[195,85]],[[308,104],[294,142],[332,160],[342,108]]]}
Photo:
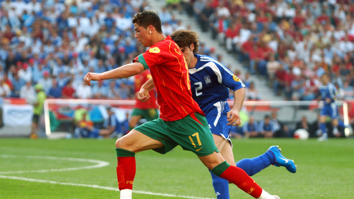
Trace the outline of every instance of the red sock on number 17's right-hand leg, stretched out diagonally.
{"label": "red sock on number 17's right-hand leg, stretched out diagonally", "polygon": [[240,189],[258,198],[262,193],[262,188],[247,173],[236,166],[230,165],[220,177],[236,184]]}

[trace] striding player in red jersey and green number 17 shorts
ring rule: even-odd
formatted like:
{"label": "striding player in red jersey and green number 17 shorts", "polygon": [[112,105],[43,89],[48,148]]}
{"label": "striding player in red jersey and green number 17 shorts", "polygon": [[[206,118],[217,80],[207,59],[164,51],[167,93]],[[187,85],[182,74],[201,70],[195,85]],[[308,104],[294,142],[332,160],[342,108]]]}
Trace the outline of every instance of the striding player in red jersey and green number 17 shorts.
{"label": "striding player in red jersey and green number 17 shorts", "polygon": [[[188,66],[178,45],[161,29],[161,19],[155,11],[145,10],[133,17],[135,37],[144,47],[133,63],[103,73],[87,73],[91,80],[126,78],[150,68],[160,105],[160,118],[148,121],[116,141],[117,178],[121,199],[131,199],[136,172],[135,153],[153,149],[162,154],[181,145],[198,155],[214,174],[236,184],[254,198],[278,199],[263,190],[241,168],[228,164],[215,146],[203,111],[193,100]],[[234,123],[235,115],[230,122]]]}

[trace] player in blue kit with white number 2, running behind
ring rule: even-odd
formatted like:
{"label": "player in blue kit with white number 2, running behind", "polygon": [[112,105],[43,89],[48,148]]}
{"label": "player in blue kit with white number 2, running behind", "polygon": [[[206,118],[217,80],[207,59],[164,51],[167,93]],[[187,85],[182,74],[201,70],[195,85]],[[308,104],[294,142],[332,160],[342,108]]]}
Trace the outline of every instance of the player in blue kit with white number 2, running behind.
{"label": "player in blue kit with white number 2, running behind", "polygon": [[[191,90],[193,99],[199,104],[206,115],[209,128],[213,133],[215,145],[224,159],[235,165],[232,144],[230,140],[230,125],[241,124],[239,115],[242,106],[245,85],[228,68],[215,59],[198,52],[198,35],[191,30],[176,30],[171,38],[179,45],[189,68]],[[145,83],[138,94],[138,99],[149,99],[147,89],[152,81]],[[234,105],[230,109],[227,101],[229,88],[234,91]],[[254,175],[270,164],[285,166],[290,172],[296,172],[293,160],[285,158],[278,146],[271,146],[264,154],[252,159],[246,158],[238,161],[236,165],[248,175]],[[213,186],[218,199],[228,199],[228,181],[210,172]]]}

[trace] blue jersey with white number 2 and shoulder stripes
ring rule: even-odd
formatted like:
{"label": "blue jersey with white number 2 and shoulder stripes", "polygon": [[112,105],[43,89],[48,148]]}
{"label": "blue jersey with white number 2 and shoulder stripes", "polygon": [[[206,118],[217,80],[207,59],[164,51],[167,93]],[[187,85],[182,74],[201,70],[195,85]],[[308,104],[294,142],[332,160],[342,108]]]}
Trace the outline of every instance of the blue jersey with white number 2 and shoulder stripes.
{"label": "blue jersey with white number 2 and shoulder stripes", "polygon": [[[212,57],[201,54],[194,54],[194,56],[198,61],[194,68],[189,68],[191,91],[193,99],[207,115],[217,108],[214,104],[227,100],[229,89],[237,90],[245,87],[245,84],[230,69]],[[224,111],[226,107],[222,109]]]}

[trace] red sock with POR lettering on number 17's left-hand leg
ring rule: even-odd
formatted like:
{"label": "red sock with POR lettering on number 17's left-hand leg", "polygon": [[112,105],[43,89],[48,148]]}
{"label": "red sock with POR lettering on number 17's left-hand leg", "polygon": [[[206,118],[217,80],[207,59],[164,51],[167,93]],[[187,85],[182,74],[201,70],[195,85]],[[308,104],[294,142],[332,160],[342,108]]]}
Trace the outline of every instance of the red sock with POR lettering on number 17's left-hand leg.
{"label": "red sock with POR lettering on number 17's left-hand leg", "polygon": [[133,189],[136,172],[135,157],[117,157],[117,178],[119,190]]}

